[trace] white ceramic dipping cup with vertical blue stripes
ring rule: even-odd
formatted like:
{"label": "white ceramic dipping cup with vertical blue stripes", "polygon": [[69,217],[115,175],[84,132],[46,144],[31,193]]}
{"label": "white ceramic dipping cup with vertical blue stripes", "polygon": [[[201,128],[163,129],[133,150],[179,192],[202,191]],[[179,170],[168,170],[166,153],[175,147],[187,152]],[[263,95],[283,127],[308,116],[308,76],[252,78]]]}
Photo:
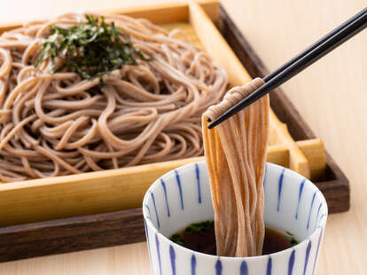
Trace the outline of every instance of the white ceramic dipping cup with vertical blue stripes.
{"label": "white ceramic dipping cup with vertical blue stripes", "polygon": [[265,224],[292,232],[301,243],[254,257],[202,254],[168,240],[187,225],[214,219],[205,161],[169,171],[145,193],[143,213],[154,275],[311,275],[324,235],[327,205],[308,179],[267,163]]}

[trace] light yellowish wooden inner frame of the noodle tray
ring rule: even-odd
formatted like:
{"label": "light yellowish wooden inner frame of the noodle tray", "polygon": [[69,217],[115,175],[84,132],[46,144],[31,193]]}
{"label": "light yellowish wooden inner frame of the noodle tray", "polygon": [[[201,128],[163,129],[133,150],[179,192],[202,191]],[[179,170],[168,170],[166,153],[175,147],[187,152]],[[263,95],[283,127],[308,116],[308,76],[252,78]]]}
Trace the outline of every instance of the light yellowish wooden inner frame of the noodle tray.
{"label": "light yellowish wooden inner frame of the noodle tray", "polygon": [[[150,20],[158,17],[160,23],[172,22],[173,16],[174,21],[189,21],[197,32],[201,43],[204,44],[205,41],[207,45],[215,44],[215,46],[207,47],[206,50],[213,56],[216,62],[222,61],[219,63],[230,72],[231,84],[241,84],[250,81],[251,77],[247,73],[246,68],[242,66],[235,53],[225,43],[223,36],[210,20],[210,18],[215,21],[218,20],[219,2],[216,0],[202,1],[200,7],[194,3],[178,3],[118,9],[109,12],[122,12],[133,16],[142,16]],[[203,10],[209,12],[210,16]],[[176,15],[179,16],[178,19]],[[218,54],[218,52],[221,54]],[[218,58],[221,60],[217,60]],[[270,120],[272,119],[272,122],[274,122],[273,125],[279,126],[281,123],[279,122],[278,124],[275,114],[272,112],[270,114],[272,114],[270,115]],[[277,129],[277,133],[282,134],[284,137],[289,137],[286,140],[282,140],[286,141],[283,144],[290,149],[288,150],[289,153],[287,152],[290,157],[286,160],[290,161],[276,161],[276,163],[282,165],[289,163],[291,169],[295,169],[298,172],[301,172],[301,169],[299,169],[301,167],[308,169],[308,160],[305,157],[305,153],[302,153],[299,146],[295,145],[285,128],[282,125],[273,128]],[[270,149],[272,148],[269,148],[269,153],[272,152]],[[298,158],[293,158],[293,155],[297,155]],[[293,161],[293,159],[297,159],[299,162]],[[270,160],[273,161],[273,159]],[[144,191],[151,184],[151,182],[144,181],[143,178],[157,178],[162,174],[160,171],[165,172],[169,169],[174,169],[188,161],[191,162],[192,159],[155,162],[147,165],[97,172],[91,171],[79,175],[29,179],[18,183],[0,185],[0,206],[3,207],[3,210],[0,210],[0,225],[27,224],[35,221],[98,214],[106,211],[138,207],[144,196]],[[301,163],[302,166],[292,167],[293,163]],[[131,181],[134,181],[133,186],[129,185]],[[127,194],[121,195],[121,190],[124,190]],[[48,207],[47,210],[44,210],[44,205]],[[25,206],[26,211],[24,211]],[[12,214],[4,210],[5,208],[12,208]]]}

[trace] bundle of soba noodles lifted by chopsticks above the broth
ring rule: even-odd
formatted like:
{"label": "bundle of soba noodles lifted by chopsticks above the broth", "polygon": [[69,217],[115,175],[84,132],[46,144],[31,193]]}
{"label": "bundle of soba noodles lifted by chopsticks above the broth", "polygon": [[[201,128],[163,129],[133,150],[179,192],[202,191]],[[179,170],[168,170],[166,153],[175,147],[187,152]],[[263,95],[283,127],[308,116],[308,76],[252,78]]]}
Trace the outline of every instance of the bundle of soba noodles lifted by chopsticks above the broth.
{"label": "bundle of soba noodles lifted by chopsticks above the broth", "polygon": [[215,209],[217,255],[262,255],[269,97],[263,97],[213,130],[215,120],[260,86],[260,78],[228,91],[223,101],[203,114],[203,137]]}

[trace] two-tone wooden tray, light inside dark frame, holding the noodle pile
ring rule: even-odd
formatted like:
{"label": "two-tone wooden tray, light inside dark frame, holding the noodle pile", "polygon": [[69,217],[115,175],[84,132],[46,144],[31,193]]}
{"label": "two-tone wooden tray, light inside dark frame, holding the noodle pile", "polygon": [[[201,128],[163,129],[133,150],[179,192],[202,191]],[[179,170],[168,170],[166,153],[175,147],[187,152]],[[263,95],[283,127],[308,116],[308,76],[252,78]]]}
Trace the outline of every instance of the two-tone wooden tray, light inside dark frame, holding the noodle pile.
{"label": "two-tone wooden tray, light inside dark frame, holding the noodle pile", "polygon": [[[223,8],[219,9],[216,1],[205,1],[200,6],[169,4],[113,12],[144,17],[168,28],[182,27],[193,40],[199,36],[200,41],[205,42],[201,46],[231,72],[231,84],[246,83],[250,75],[266,75],[266,68]],[[207,16],[216,23],[247,71]],[[12,27],[16,25],[2,30]],[[218,52],[225,53],[215,54]],[[324,152],[322,142],[316,139],[285,94],[277,90],[272,93],[270,101],[275,114],[271,115],[268,160],[316,181],[328,200],[331,213],[346,211],[349,208],[347,178]],[[143,218],[139,207],[146,188],[169,169],[197,160],[168,161],[1,185],[0,261],[143,241]],[[112,212],[121,209],[127,210]],[[88,214],[92,215],[83,216]],[[67,216],[74,217],[57,219]]]}

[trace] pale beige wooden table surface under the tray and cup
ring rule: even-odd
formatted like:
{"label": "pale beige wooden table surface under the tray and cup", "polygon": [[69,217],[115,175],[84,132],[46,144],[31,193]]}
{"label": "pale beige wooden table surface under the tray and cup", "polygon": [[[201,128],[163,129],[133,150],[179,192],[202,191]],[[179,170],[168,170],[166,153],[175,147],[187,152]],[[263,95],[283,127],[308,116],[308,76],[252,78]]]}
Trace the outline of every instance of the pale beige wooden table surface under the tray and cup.
{"label": "pale beige wooden table surface under the tray and cup", "polygon": [[[3,3],[4,2],[4,3]],[[169,3],[171,0],[0,0],[0,23],[62,12]],[[270,69],[361,10],[365,0],[223,0]],[[5,8],[4,8],[5,7]],[[284,85],[302,116],[347,174],[350,211],[329,218],[317,274],[367,274],[367,32]],[[1,263],[9,275],[149,274],[145,243]]]}

